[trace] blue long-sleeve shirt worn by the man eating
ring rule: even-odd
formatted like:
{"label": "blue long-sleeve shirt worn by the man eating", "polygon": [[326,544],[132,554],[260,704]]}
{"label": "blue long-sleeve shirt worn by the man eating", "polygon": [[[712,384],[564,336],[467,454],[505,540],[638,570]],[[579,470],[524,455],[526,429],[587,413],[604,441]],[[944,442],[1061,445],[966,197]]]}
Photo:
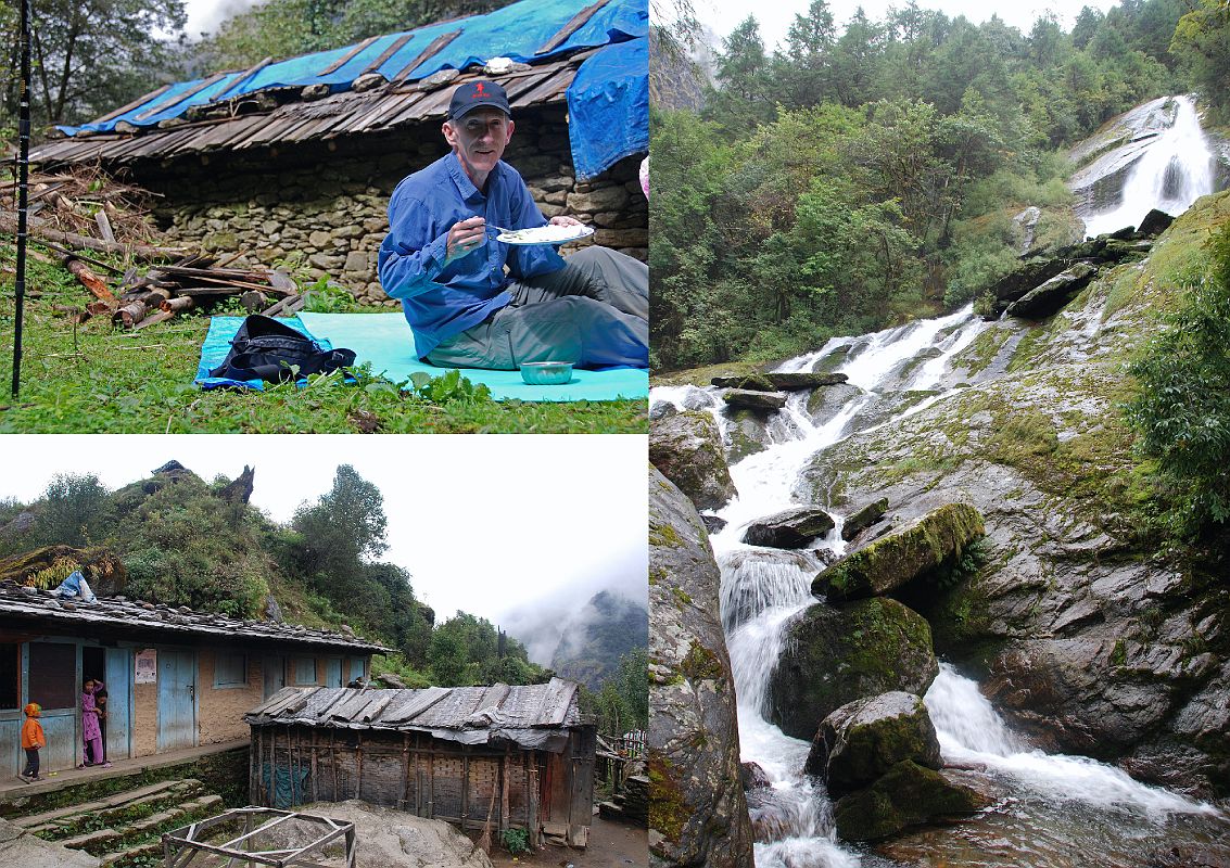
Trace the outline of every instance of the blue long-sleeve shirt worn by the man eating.
{"label": "blue long-sleeve shirt worn by the man eating", "polygon": [[[449,229],[472,216],[487,220],[487,243],[445,266]],[[504,288],[512,280],[563,268],[555,247],[501,243],[491,229],[545,224],[522,176],[504,161],[487,176],[486,193],[474,186],[455,154],[397,184],[378,270],[385,293],[401,300],[419,358],[506,306],[510,298]]]}

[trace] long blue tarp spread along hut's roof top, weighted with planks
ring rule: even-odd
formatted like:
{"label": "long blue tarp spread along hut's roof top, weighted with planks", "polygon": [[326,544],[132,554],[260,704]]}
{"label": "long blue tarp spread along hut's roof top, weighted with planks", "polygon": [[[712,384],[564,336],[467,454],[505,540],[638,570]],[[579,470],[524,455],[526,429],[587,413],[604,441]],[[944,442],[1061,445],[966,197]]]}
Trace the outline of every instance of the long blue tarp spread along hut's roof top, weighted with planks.
{"label": "long blue tarp spread along hut's roof top, weighted with planks", "polygon": [[[272,63],[251,75],[247,71],[230,73],[199,92],[180,101],[184,93],[208,81],[208,77],[182,81],[148,103],[118,117],[102,123],[59,127],[59,129],[69,135],[75,135],[80,130],[109,133],[121,122],[135,127],[150,127],[160,120],[182,117],[193,106],[205,105],[218,97],[231,100],[269,87],[303,87],[326,84],[333,91],[344,91],[349,89],[351,82],[358,75],[405,33],[413,33],[413,38],[373,71],[379,71],[385,77],[392,77],[403,71],[405,66],[417,58],[433,39],[454,31],[461,31],[460,36],[403,77],[413,81],[442,69],[465,69],[470,64],[483,64],[496,57],[534,63],[583,48],[595,48],[630,39],[646,39],[649,21],[647,0],[610,0],[560,45],[544,54],[535,54],[588,5],[590,5],[589,0],[520,0],[520,2],[487,15],[383,36],[343,66],[327,75],[321,75],[321,73],[346,57],[354,48],[353,45]],[[647,59],[641,74],[648,76]],[[647,116],[643,123],[648,124]]]}

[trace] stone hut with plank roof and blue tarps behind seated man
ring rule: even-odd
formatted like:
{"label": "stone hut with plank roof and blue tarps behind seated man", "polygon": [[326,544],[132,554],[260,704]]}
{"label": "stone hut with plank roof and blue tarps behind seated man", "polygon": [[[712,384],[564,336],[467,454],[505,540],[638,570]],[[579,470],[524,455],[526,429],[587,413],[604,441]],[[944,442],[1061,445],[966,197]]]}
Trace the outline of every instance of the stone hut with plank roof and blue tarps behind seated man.
{"label": "stone hut with plank roof and blue tarps behind seated man", "polygon": [[[454,87],[488,77],[517,130],[504,160],[549,218],[594,225],[590,243],[641,259],[648,208],[646,0],[520,0],[494,12],[373,37],[160,87],[38,148],[42,168],[101,165],[159,194],[171,243],[339,282],[371,304],[389,195],[448,151]],[[567,251],[579,246],[569,246]]]}

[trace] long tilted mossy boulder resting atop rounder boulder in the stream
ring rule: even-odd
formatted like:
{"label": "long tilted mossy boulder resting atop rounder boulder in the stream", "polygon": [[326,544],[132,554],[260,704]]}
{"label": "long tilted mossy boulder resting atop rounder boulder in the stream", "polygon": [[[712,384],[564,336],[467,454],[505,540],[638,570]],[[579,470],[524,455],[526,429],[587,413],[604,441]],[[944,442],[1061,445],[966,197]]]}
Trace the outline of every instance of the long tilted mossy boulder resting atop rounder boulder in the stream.
{"label": "long tilted mossy boulder resting atop rounder boulder in the stream", "polygon": [[983,516],[972,505],[946,504],[838,561],[815,577],[812,591],[830,600],[891,594],[959,558],[984,532]]}

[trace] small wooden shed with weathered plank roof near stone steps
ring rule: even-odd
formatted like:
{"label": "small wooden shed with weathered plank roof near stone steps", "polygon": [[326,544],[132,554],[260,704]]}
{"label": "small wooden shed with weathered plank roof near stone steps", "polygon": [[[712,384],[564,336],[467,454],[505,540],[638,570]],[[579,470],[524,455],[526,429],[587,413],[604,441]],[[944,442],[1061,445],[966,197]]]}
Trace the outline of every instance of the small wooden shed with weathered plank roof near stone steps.
{"label": "small wooden shed with weathered plank roof near stone steps", "polygon": [[577,685],[287,687],[245,718],[252,804],[362,799],[492,832],[584,846],[594,724]]}

